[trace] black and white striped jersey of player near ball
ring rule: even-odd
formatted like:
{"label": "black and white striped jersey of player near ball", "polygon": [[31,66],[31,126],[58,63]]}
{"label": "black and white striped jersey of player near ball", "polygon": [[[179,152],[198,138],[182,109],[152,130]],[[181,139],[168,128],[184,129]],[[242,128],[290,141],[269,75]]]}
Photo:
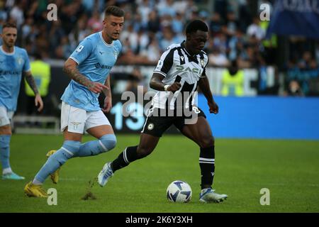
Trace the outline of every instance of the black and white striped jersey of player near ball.
{"label": "black and white striped jersey of player near ball", "polygon": [[[185,41],[170,45],[157,63],[154,73],[165,77],[162,82],[169,85],[180,82],[181,88],[174,92],[174,96],[172,92],[157,92],[152,99],[152,106],[155,108],[189,108],[189,104],[194,104],[198,80],[206,77],[208,55],[202,50],[200,54],[191,56],[184,43]],[[182,97],[184,101],[179,101],[178,97]]]}

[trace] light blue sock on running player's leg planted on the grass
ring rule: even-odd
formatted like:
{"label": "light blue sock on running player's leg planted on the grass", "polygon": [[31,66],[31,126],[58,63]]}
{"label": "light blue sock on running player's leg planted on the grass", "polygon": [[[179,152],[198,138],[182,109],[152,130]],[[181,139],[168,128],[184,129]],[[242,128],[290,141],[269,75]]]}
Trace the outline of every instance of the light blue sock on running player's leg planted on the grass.
{"label": "light blue sock on running player's leg planted on the grass", "polygon": [[55,172],[61,165],[65,164],[65,162],[71,158],[73,155],[79,152],[79,147],[81,142],[79,141],[72,141],[72,140],[65,140],[63,143],[62,148],[57,150],[56,153],[51,155],[45,165],[41,168],[37,175],[35,175],[35,179],[39,182],[44,182],[52,172]]}

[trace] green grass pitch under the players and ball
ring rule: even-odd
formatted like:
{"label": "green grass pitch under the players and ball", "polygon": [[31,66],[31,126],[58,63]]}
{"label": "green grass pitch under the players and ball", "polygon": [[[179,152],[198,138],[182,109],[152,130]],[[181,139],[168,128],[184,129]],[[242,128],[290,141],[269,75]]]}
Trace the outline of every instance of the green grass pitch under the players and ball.
{"label": "green grass pitch under the players and ball", "polygon": [[[216,139],[213,187],[229,197],[220,204],[201,204],[197,145],[181,135],[164,135],[152,155],[116,172],[106,187],[94,184],[95,200],[82,200],[103,164],[126,146],[137,145],[139,135],[117,138],[109,153],[69,160],[59,184],[48,178],[45,189],[57,189],[57,205],[49,206],[47,199],[28,198],[23,187],[43,165],[47,151],[60,148],[62,135],[13,135],[11,166],[26,179],[0,179],[0,212],[319,212],[319,141],[306,140]],[[176,179],[191,185],[187,204],[166,199],[167,186]],[[262,188],[269,189],[269,205],[260,204]]]}

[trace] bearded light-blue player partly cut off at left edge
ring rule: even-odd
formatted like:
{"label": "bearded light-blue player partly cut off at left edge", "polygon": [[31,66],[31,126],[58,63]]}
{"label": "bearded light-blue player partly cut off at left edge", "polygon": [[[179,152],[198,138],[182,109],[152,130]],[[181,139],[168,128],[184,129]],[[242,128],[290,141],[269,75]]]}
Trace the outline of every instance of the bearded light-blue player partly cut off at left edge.
{"label": "bearded light-blue player partly cut off at left edge", "polygon": [[43,101],[30,72],[28,53],[14,44],[17,38],[16,25],[5,23],[2,28],[0,46],[0,157],[2,179],[24,179],[11,170],[9,162],[11,125],[10,121],[16,111],[22,74],[35,93],[35,106],[43,109]]}

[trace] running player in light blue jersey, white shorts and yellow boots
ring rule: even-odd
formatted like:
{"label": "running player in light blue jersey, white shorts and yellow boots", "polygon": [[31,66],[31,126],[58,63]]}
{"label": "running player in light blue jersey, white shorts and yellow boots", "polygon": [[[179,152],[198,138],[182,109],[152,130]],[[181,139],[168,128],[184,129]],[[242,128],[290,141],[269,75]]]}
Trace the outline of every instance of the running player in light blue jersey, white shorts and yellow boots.
{"label": "running player in light blue jersey, white shorts and yellow boots", "polygon": [[[99,155],[116,146],[116,136],[108,119],[99,106],[99,94],[106,96],[103,111],[112,107],[110,77],[111,68],[121,51],[118,40],[123,28],[124,12],[117,6],[108,6],[105,11],[103,30],[86,37],[69,59],[64,71],[71,82],[62,95],[61,131],[65,141],[60,150],[47,153],[47,162],[33,182],[24,188],[28,196],[46,197],[42,184],[51,175],[57,183],[60,167],[71,157]],[[86,131],[98,140],[81,143]]]}

